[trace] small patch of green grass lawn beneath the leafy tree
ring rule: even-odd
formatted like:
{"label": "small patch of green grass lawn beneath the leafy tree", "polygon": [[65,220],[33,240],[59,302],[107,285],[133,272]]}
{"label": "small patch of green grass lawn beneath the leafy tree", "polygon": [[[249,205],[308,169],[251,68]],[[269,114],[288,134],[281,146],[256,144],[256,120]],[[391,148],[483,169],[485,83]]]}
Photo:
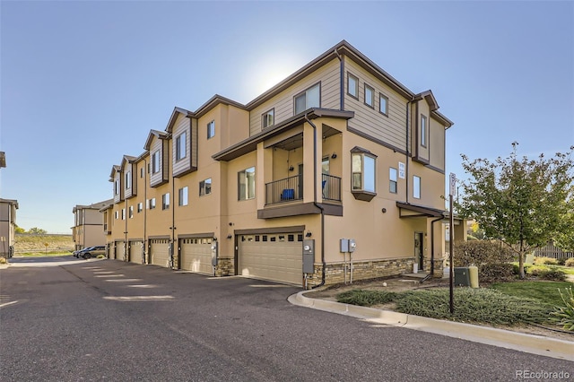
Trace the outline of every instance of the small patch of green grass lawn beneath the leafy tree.
{"label": "small patch of green grass lawn beneath the leafy tree", "polygon": [[495,282],[491,289],[510,296],[539,300],[552,306],[562,305],[558,289],[571,287],[572,282]]}

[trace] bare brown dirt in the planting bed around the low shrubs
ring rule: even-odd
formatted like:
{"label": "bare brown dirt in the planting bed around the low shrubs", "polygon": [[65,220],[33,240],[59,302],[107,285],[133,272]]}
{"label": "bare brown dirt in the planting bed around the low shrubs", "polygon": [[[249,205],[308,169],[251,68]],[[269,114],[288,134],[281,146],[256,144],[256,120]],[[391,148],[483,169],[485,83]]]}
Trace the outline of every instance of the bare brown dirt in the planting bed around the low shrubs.
{"label": "bare brown dirt in the planting bed around the low shrubs", "polygon": [[[482,285],[484,287],[486,285]],[[407,278],[383,278],[367,281],[352,282],[352,284],[337,284],[325,287],[317,291],[310,291],[305,293],[306,297],[310,299],[336,301],[336,296],[344,291],[352,291],[362,289],[366,291],[413,291],[421,289],[432,288],[448,288],[448,279],[429,279],[425,282],[418,280],[411,280]],[[370,308],[378,308],[385,310],[393,310],[394,303],[373,306]],[[474,324],[477,325],[477,324]],[[483,326],[489,326],[483,324]],[[564,332],[559,329],[545,328],[543,326],[491,326],[499,329],[509,330],[518,333],[536,334],[545,337],[556,338],[564,341],[574,342],[574,333]]]}

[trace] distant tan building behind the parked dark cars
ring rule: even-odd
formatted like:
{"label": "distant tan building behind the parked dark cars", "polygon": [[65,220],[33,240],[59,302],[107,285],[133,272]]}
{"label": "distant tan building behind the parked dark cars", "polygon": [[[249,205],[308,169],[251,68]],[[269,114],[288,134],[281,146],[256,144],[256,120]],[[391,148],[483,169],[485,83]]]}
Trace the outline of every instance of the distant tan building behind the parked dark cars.
{"label": "distant tan building behind the parked dark cars", "polygon": [[74,213],[74,227],[72,227],[74,249],[106,244],[106,236],[102,230],[102,228],[105,228],[104,221],[100,209],[113,203],[114,201],[109,199],[89,205],[78,204],[74,207],[72,210],[72,213]]}

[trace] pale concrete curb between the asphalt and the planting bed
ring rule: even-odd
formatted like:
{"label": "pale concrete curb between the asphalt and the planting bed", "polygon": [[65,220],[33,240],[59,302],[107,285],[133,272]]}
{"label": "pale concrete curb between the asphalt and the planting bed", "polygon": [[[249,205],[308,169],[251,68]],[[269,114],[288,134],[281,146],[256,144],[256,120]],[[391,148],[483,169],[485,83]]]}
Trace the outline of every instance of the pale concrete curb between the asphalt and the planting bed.
{"label": "pale concrete curb between the asphalt and the planting bed", "polygon": [[544,355],[561,360],[572,360],[574,342],[548,338],[542,335],[523,334],[487,326],[476,326],[434,318],[397,313],[390,310],[359,307],[329,300],[305,297],[309,291],[300,291],[289,297],[289,302],[305,308],[313,308],[389,326],[400,326],[422,332],[447,335],[474,343],[485,343],[519,352]]}

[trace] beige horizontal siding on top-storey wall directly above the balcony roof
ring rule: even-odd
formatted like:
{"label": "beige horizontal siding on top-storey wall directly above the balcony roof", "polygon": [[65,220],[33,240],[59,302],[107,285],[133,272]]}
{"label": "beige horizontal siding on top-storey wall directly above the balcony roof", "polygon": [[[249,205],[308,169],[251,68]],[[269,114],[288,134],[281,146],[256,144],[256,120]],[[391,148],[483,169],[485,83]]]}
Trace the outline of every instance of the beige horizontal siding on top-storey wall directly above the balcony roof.
{"label": "beige horizontal siding on top-storey wall directly above the balcony roof", "polygon": [[339,60],[334,59],[321,66],[307,77],[292,84],[289,88],[267,100],[250,111],[249,135],[255,135],[262,129],[261,116],[263,113],[274,109],[275,125],[293,117],[295,107],[293,98],[301,91],[307,90],[317,82],[321,82],[321,105],[323,109],[339,109]]}

